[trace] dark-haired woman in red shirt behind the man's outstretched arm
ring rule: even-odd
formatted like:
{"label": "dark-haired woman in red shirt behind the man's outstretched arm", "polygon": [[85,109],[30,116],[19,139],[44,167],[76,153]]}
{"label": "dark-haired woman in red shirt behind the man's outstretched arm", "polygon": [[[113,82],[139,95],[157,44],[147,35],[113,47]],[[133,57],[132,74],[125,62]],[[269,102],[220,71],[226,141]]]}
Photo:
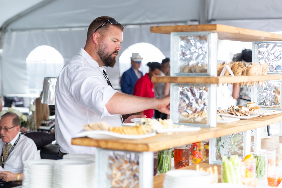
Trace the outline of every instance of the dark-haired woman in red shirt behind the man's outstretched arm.
{"label": "dark-haired woman in red shirt behind the man's outstretched arm", "polygon": [[[140,97],[154,97],[154,83],[151,81],[152,76],[160,76],[161,75],[161,64],[158,62],[149,62],[147,63],[149,67],[149,73],[146,73],[136,82],[133,90],[133,95]],[[144,110],[144,115],[147,118],[152,118],[154,115],[154,110]]]}

